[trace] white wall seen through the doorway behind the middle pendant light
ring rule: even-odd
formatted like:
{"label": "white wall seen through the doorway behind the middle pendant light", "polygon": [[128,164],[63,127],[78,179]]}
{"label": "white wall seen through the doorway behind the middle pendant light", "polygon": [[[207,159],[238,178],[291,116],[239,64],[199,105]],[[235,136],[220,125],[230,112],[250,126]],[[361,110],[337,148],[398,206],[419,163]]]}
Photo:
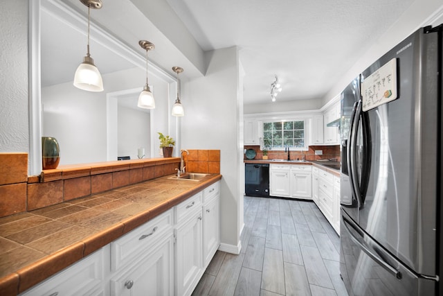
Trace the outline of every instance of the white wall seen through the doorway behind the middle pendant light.
{"label": "white wall seen through the doorway behind the middle pendant light", "polygon": [[138,159],[138,148],[150,153],[150,114],[133,108],[118,106],[118,156]]}

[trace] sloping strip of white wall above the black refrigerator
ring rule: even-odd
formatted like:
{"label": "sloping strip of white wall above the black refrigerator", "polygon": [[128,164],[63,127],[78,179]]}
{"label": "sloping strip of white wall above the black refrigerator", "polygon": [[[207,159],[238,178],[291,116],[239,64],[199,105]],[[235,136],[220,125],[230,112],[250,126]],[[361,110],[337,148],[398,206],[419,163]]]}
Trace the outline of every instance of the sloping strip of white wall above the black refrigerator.
{"label": "sloping strip of white wall above the black refrigerator", "polygon": [[[343,89],[378,60],[383,54],[396,46],[401,40],[404,40],[411,33],[422,26],[437,23],[437,18],[443,14],[443,3],[441,0],[415,0],[413,4],[404,12],[403,15],[388,28],[374,45],[368,48],[365,54],[354,64],[354,66],[345,73],[345,75],[336,83],[336,85],[323,98],[323,104],[326,104],[334,96],[340,94]],[[440,17],[440,21],[442,18]],[[435,22],[434,22],[435,21]]]}

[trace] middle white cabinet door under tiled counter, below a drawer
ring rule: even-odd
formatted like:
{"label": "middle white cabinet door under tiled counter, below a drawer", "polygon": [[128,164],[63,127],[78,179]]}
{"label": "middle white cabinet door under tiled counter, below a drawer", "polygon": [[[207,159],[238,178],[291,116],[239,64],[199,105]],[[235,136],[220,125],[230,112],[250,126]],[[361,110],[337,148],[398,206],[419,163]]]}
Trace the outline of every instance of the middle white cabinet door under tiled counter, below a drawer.
{"label": "middle white cabinet door under tiled counter, below a drawer", "polygon": [[203,236],[201,210],[177,225],[177,295],[190,295],[203,272]]}

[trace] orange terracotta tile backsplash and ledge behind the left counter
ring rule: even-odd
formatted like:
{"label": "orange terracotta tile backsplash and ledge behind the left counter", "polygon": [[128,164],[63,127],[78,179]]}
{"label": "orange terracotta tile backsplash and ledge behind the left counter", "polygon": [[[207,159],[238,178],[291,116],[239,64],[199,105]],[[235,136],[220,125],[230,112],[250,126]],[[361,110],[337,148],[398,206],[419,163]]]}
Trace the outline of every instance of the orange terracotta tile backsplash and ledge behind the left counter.
{"label": "orange terracotta tile backsplash and ledge behind the left counter", "polygon": [[[183,153],[186,171],[220,173],[220,150],[188,151],[189,155]],[[32,210],[49,218],[74,214],[88,207],[66,207],[66,204],[60,207],[57,204],[66,201],[75,203],[77,198],[171,175],[177,172],[175,168],[179,166],[179,157],[133,159],[125,162],[100,162],[89,166],[59,166],[53,170],[45,170],[41,175],[28,176],[27,153],[0,153],[0,231],[1,220],[8,218],[7,216],[19,213],[26,215],[26,211]],[[122,203],[125,201],[114,202],[116,207]],[[107,206],[111,204],[108,203]],[[26,221],[26,216],[22,220]],[[103,223],[106,224],[106,221]]]}

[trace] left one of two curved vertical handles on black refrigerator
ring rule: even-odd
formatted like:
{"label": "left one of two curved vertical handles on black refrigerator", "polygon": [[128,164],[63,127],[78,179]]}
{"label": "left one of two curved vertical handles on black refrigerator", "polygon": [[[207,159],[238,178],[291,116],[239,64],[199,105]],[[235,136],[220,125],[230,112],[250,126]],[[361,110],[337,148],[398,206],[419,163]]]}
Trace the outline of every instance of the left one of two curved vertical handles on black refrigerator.
{"label": "left one of two curved vertical handles on black refrigerator", "polygon": [[356,156],[356,146],[357,146],[357,131],[359,128],[361,116],[361,100],[357,103],[354,119],[352,120],[351,126],[351,141],[348,143],[350,147],[350,169],[348,171],[350,173],[351,186],[354,189],[354,194],[356,195],[356,199],[359,204],[359,208],[363,207],[363,203],[361,200],[361,191],[359,186],[359,174],[357,169],[357,156]]}

